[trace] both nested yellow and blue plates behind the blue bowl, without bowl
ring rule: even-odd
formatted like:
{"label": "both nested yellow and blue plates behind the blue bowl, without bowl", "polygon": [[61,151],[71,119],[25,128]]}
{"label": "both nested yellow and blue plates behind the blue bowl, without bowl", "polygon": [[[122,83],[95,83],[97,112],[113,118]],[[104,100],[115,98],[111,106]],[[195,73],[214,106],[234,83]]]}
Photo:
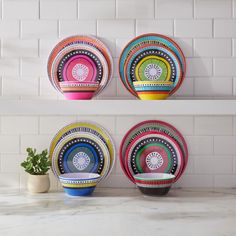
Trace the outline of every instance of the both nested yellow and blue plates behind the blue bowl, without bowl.
{"label": "both nested yellow and blue plates behind the blue bowl, without bowl", "polygon": [[90,122],[77,122],[55,135],[49,155],[57,178],[65,173],[97,173],[100,182],[114,166],[115,146],[104,128]]}

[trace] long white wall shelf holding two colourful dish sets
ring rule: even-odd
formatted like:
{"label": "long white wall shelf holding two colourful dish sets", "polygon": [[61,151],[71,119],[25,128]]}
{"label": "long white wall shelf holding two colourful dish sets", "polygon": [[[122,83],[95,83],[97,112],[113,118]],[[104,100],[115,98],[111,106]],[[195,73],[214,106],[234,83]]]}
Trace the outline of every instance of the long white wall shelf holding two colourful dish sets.
{"label": "long white wall shelf holding two colourful dish sets", "polygon": [[1,100],[0,115],[236,115],[236,100]]}

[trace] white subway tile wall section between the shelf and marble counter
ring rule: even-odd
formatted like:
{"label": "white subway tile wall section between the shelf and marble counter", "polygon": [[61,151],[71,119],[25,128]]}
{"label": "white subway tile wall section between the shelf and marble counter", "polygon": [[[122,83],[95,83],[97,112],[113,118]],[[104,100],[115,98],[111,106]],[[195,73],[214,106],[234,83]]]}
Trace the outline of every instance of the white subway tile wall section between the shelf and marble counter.
{"label": "white subway tile wall section between the shelf and marble counter", "polygon": [[[0,176],[9,176],[9,187],[25,188],[26,173],[20,162],[26,148],[49,148],[57,131],[76,121],[96,122],[111,134],[116,146],[116,162],[102,187],[134,187],[119,162],[119,147],[125,133],[135,124],[159,119],[174,125],[185,137],[189,162],[176,187],[236,187],[236,117],[233,116],[2,116],[0,117]],[[51,174],[52,190],[60,189]],[[205,181],[202,179],[206,178]],[[1,183],[0,187],[7,183]]]}

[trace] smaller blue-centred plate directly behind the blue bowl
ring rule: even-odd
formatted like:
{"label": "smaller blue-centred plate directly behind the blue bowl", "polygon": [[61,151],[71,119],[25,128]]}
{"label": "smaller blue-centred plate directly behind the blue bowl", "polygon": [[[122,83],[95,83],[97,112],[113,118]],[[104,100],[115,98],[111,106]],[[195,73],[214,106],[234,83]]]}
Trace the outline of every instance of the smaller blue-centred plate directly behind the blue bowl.
{"label": "smaller blue-centred plate directly behind the blue bowl", "polygon": [[110,154],[95,135],[79,132],[64,137],[52,154],[55,176],[64,173],[97,173],[104,179],[110,171]]}

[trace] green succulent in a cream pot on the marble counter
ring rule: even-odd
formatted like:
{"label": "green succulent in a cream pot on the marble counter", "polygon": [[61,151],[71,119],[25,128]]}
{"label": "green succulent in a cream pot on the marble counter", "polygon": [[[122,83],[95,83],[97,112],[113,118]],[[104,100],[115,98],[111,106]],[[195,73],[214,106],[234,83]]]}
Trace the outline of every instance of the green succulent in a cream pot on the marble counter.
{"label": "green succulent in a cream pot on the marble counter", "polygon": [[31,193],[45,193],[50,188],[48,170],[51,167],[51,161],[48,157],[48,151],[36,153],[36,149],[27,148],[28,156],[21,166],[28,175],[27,187]]}

